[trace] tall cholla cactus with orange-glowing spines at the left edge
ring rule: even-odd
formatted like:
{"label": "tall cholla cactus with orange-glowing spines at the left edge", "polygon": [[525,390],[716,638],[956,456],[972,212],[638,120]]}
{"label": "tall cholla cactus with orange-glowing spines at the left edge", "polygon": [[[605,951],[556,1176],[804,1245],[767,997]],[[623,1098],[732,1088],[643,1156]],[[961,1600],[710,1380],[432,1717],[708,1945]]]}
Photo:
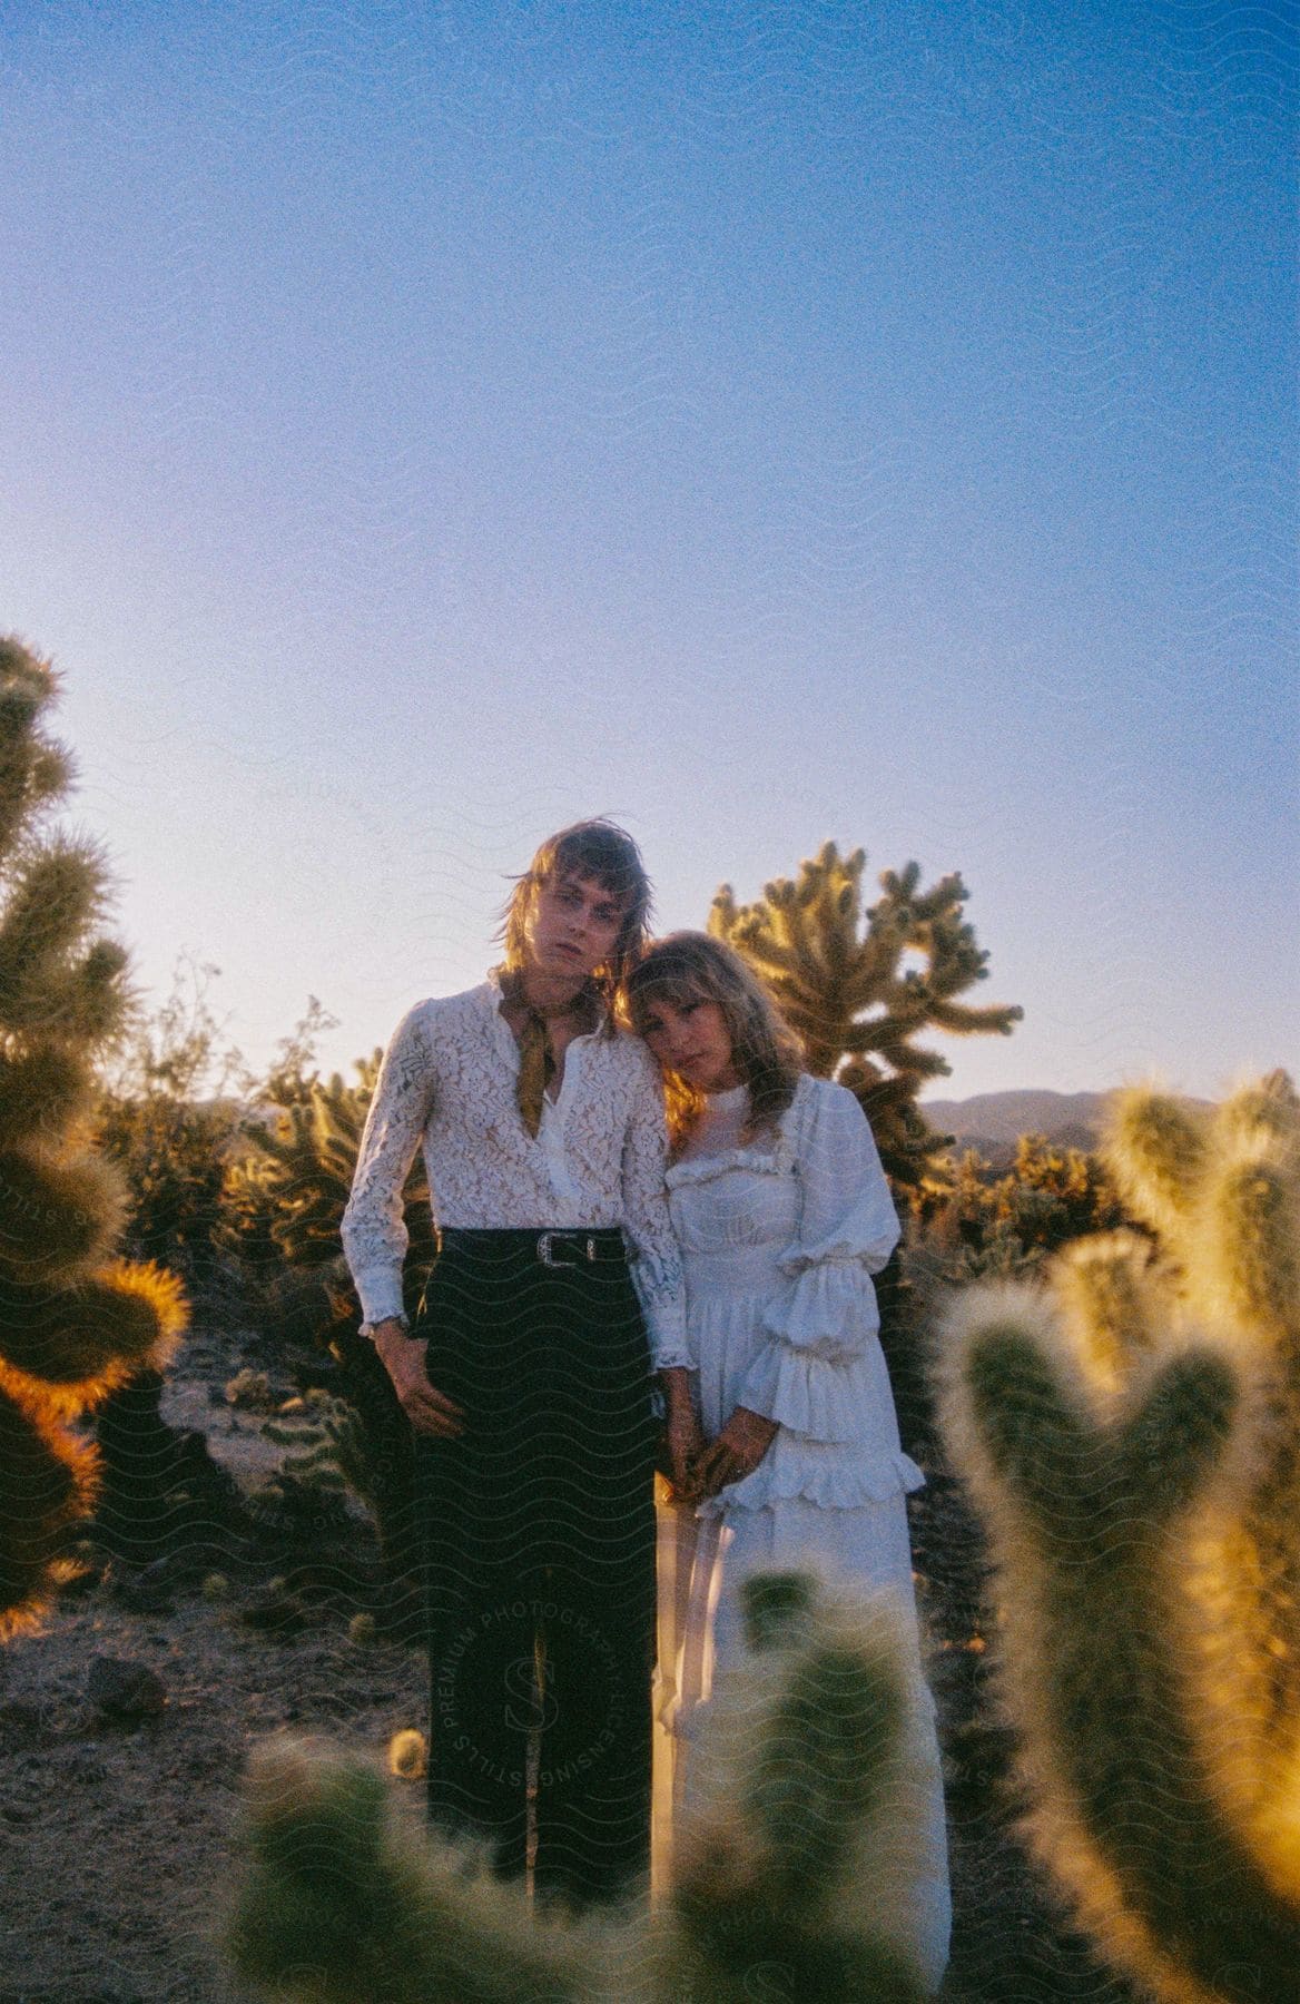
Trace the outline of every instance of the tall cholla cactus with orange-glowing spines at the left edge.
{"label": "tall cholla cactus with orange-glowing spines at the left edge", "polygon": [[94,1491],[66,1421],[158,1363],[186,1319],[172,1275],[112,1261],[122,1184],[88,1124],[126,954],[96,936],[98,848],[40,830],[72,786],[40,727],[56,693],[46,661],[0,639],[0,1639],[38,1617]]}

